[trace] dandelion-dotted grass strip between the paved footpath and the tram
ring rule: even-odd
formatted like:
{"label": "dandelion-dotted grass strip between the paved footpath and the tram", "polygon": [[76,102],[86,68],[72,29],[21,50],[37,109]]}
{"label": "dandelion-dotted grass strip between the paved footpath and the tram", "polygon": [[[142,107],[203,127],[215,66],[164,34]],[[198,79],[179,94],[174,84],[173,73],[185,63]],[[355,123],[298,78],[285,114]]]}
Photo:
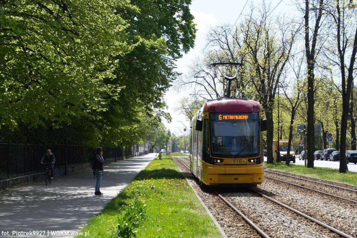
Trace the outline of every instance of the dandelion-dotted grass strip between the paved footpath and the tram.
{"label": "dandelion-dotted grass strip between the paved footpath and the tram", "polygon": [[170,156],[154,159],[81,232],[89,232],[86,237],[116,237],[112,228],[135,199],[147,208],[136,237],[222,237]]}

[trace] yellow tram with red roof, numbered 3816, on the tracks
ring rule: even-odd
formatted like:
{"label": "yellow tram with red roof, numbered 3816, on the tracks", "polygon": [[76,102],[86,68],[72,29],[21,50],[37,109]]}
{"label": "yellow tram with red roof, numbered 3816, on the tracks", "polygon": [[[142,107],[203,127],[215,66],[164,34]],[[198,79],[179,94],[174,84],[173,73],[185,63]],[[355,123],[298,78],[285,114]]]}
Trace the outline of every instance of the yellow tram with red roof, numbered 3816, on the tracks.
{"label": "yellow tram with red roof, numbered 3816, on the tracks", "polygon": [[191,172],[209,186],[261,184],[261,116],[260,103],[246,98],[207,101],[191,121]]}

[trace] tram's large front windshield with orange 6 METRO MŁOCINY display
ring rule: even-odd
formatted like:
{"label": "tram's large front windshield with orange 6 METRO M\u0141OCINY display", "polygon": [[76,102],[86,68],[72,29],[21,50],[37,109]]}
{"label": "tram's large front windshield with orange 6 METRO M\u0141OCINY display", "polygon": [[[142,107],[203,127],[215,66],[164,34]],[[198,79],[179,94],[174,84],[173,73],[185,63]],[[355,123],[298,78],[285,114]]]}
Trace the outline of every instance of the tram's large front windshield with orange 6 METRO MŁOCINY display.
{"label": "tram's large front windshield with orange 6 METRO M\u0141OCINY display", "polygon": [[210,113],[213,156],[259,156],[259,113]]}

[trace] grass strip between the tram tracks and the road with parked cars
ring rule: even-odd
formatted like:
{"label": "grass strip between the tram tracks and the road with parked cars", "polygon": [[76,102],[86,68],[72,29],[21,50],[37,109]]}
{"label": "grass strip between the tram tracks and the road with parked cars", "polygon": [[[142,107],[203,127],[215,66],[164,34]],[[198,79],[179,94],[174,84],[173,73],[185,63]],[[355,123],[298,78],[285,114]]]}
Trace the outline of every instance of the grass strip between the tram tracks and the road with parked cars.
{"label": "grass strip between the tram tracks and the road with parked cars", "polygon": [[320,178],[340,183],[347,183],[351,185],[357,186],[357,173],[348,171],[347,173],[340,173],[338,169],[335,168],[323,168],[323,167],[315,167],[315,168],[306,168],[303,165],[296,165],[290,163],[290,166],[286,166],[285,163],[277,163],[273,164],[264,163],[265,168],[276,169],[283,172],[300,174],[303,176]]}

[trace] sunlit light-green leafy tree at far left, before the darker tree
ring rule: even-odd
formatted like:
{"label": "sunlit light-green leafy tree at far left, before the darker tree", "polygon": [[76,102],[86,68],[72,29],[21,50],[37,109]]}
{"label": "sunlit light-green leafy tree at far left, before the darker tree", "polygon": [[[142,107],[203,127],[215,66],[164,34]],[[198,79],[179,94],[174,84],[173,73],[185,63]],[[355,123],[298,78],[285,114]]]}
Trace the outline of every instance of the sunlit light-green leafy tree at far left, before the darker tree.
{"label": "sunlit light-green leafy tree at far left, before the darker tree", "polygon": [[136,10],[121,0],[1,5],[2,14],[10,12],[21,32],[9,24],[0,28],[0,125],[14,130],[20,123],[71,123],[71,116],[106,110],[102,96],[118,95],[122,88],[103,83],[114,77],[110,56],[134,47],[114,5]]}

